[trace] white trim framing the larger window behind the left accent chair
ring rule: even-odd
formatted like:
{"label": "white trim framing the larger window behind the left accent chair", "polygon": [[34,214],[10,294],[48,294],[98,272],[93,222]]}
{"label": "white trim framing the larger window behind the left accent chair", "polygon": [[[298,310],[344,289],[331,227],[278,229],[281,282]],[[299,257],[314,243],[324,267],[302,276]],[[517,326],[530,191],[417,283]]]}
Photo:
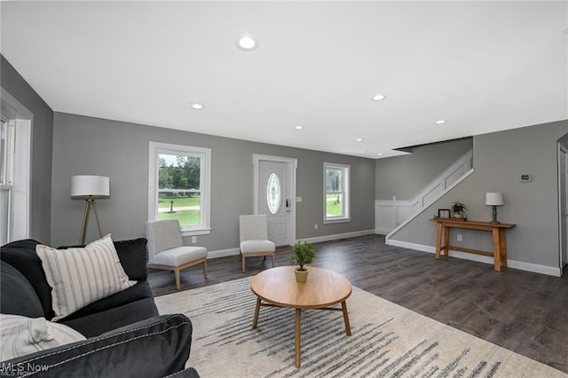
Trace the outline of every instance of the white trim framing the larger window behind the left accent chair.
{"label": "white trim framing the larger window behind the left accent chair", "polygon": [[[181,227],[182,236],[209,235],[211,233],[211,149],[206,147],[173,145],[150,142],[148,163],[148,220],[158,216],[158,154],[180,154],[201,158],[201,225]],[[203,196],[205,198],[203,198]]]}

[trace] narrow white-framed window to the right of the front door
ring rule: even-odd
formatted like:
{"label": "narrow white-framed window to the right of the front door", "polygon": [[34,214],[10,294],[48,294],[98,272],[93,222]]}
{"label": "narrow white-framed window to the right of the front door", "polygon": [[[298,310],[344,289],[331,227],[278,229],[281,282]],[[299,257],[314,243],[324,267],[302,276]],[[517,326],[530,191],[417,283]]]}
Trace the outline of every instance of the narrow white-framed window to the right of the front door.
{"label": "narrow white-framed window to the right of the front door", "polygon": [[324,223],[349,222],[349,165],[324,162]]}

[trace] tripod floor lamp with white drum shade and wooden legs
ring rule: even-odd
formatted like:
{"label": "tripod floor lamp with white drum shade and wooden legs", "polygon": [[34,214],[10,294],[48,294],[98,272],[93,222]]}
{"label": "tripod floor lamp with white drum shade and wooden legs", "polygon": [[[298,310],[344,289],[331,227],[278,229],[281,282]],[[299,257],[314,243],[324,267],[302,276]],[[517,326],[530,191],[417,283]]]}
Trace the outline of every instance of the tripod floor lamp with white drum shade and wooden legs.
{"label": "tripod floor lamp with white drum shade and wooden legs", "polygon": [[103,233],[100,231],[99,213],[97,212],[97,202],[95,200],[110,198],[110,178],[91,175],[71,177],[71,198],[73,200],[85,200],[85,214],[83,216],[83,226],[81,227],[81,239],[79,243],[85,243],[91,208],[95,211],[99,235],[102,238]]}

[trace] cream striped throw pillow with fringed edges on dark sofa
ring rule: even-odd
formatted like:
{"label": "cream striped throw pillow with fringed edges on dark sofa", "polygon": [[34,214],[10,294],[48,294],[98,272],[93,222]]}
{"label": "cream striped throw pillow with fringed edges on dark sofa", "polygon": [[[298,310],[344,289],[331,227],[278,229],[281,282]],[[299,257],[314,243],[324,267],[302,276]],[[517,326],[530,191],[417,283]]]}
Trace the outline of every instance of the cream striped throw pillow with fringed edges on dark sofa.
{"label": "cream striped throw pillow with fringed edges on dark sofa", "polygon": [[36,253],[52,287],[56,315],[52,320],[136,284],[124,272],[110,234],[84,248],[56,249],[38,244]]}

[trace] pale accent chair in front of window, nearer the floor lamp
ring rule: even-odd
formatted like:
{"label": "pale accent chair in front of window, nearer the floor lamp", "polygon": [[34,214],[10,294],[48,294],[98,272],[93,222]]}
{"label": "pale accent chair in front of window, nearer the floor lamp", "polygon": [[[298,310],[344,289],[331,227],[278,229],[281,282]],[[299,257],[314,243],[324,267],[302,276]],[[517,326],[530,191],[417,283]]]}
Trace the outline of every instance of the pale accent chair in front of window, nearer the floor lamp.
{"label": "pale accent chair in front of window, nearer the floor lamp", "polygon": [[148,268],[176,273],[176,288],[181,288],[179,272],[196,264],[203,264],[207,279],[207,248],[184,245],[177,219],[146,222],[148,240]]}

